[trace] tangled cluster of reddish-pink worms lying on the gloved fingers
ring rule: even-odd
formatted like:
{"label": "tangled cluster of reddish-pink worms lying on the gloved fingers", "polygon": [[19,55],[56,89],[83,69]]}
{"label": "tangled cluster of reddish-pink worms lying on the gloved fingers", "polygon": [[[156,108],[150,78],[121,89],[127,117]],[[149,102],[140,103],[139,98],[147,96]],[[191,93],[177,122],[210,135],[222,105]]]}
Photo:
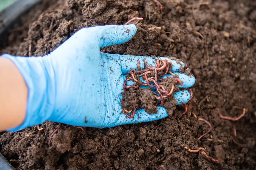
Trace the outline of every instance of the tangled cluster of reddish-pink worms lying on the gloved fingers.
{"label": "tangled cluster of reddish-pink worms lying on the gloved fingers", "polygon": [[[140,86],[155,87],[157,95],[154,95],[154,97],[157,100],[160,100],[160,105],[163,106],[164,98],[167,98],[168,96],[173,94],[174,84],[179,82],[181,84],[181,86],[183,86],[183,81],[181,81],[177,77],[170,77],[171,79],[176,80],[176,82],[172,85],[171,90],[167,91],[165,89],[165,87],[163,87],[161,84],[159,84],[159,82],[164,81],[164,80],[162,78],[158,78],[157,74],[159,73],[159,71],[162,71],[163,75],[167,75],[169,73],[174,76],[174,74],[169,71],[169,68],[173,65],[173,63],[170,61],[167,61],[167,60],[156,59],[155,67],[149,66],[149,64],[147,63],[147,60],[145,60],[145,64],[146,64],[146,69],[141,70],[140,69],[140,61],[138,61],[138,64],[137,64],[138,71],[136,71],[135,69],[132,69],[127,73],[126,80],[124,81],[124,84],[123,84],[123,90],[124,90],[124,92],[126,92],[130,88],[138,89],[139,86],[136,85],[136,83],[140,84]],[[142,79],[144,79],[146,81],[146,83],[144,83],[143,81],[138,83],[140,81],[141,77],[142,77]],[[127,81],[133,81],[134,84],[127,86],[126,85]],[[125,108],[123,108],[123,113],[128,118],[134,117],[134,115],[136,113],[136,108],[134,108],[134,111],[132,112],[131,115],[128,115],[131,112],[132,112],[132,110],[128,111]]]}

